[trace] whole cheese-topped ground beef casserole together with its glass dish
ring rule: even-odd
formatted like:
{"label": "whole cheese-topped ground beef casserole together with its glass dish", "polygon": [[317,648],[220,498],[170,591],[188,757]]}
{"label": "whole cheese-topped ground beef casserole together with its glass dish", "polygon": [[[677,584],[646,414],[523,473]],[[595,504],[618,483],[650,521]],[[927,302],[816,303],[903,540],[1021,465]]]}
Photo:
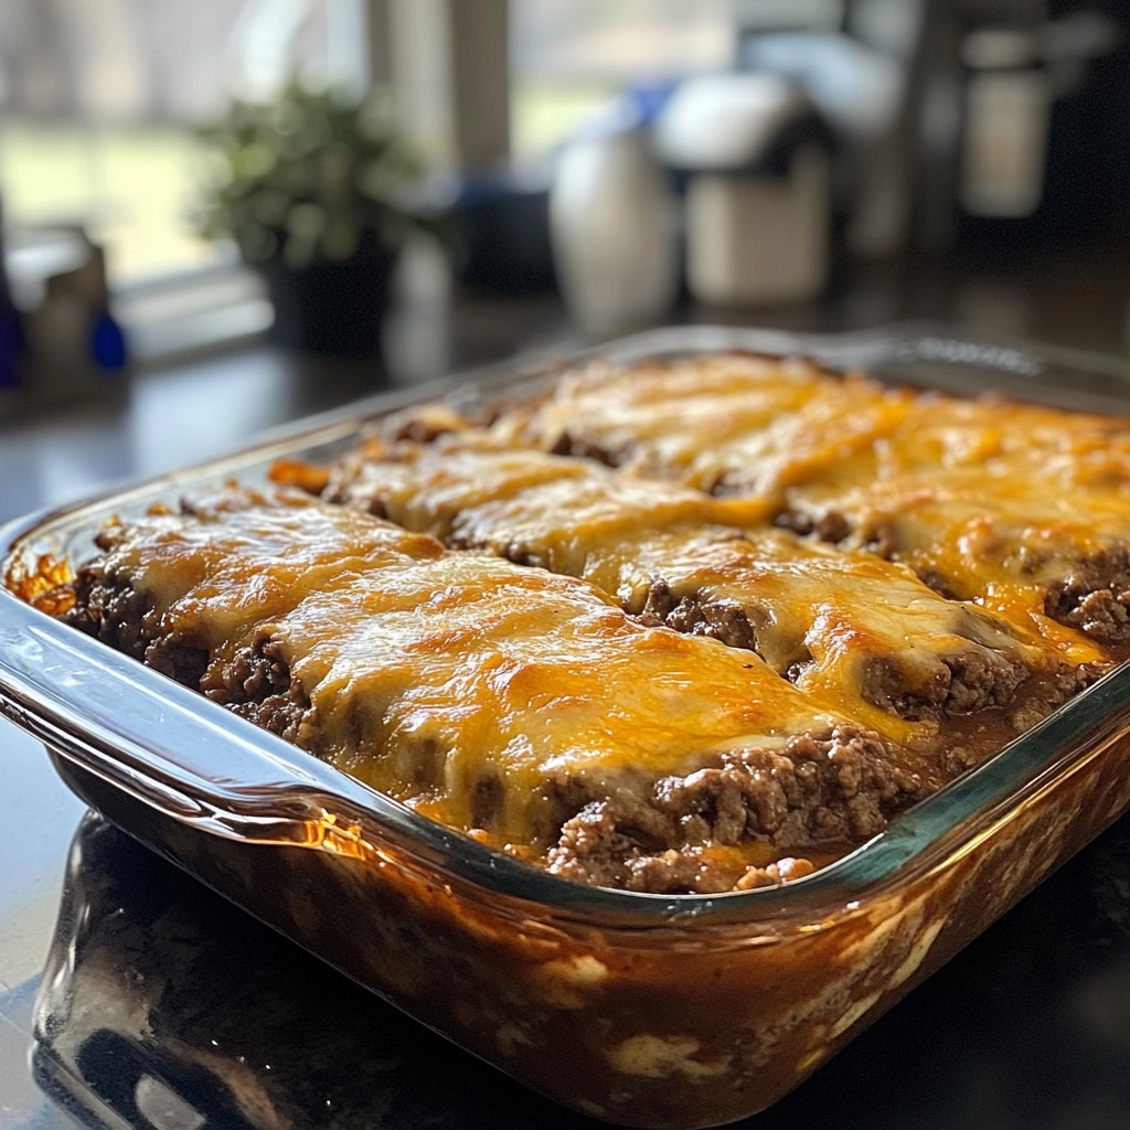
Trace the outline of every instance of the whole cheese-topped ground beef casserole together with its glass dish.
{"label": "whole cheese-topped ground beef casserole together with its glass dish", "polygon": [[1130,440],[1058,375],[683,330],[312,423],[10,528],[6,712],[516,1078],[732,1121],[1130,805]]}

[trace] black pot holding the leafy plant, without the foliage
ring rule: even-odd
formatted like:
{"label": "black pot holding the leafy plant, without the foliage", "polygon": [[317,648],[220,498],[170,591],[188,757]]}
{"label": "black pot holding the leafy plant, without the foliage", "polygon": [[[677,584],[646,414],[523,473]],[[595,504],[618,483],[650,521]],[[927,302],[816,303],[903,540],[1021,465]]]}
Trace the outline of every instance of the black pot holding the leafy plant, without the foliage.
{"label": "black pot holding the leafy plant, without the foliage", "polygon": [[261,264],[275,305],[271,339],[302,353],[379,356],[395,266],[397,255],[384,251],[298,270]]}

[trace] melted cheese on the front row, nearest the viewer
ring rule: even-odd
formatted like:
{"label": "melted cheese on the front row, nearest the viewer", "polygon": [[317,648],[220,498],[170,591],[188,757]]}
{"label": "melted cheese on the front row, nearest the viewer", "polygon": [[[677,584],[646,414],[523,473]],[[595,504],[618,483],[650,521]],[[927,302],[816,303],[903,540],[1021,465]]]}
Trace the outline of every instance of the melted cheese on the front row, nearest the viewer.
{"label": "melted cheese on the front row, nearest the viewer", "polygon": [[[615,788],[843,722],[756,657],[633,621],[581,581],[445,553],[357,511],[233,493],[110,531],[102,568],[224,662],[269,637],[310,709],[298,744],[497,842]],[[910,755],[907,755],[910,756]]]}

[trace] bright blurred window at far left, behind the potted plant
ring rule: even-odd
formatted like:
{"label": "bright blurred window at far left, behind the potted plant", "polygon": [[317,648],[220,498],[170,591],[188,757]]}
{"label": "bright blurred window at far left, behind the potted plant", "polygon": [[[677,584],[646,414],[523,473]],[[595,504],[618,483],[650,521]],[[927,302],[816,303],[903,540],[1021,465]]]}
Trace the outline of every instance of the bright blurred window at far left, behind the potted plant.
{"label": "bright blurred window at far left, behind the potted plant", "polygon": [[188,218],[192,125],[292,70],[364,73],[363,0],[3,0],[0,190],[9,224],[81,225],[116,289],[223,251]]}

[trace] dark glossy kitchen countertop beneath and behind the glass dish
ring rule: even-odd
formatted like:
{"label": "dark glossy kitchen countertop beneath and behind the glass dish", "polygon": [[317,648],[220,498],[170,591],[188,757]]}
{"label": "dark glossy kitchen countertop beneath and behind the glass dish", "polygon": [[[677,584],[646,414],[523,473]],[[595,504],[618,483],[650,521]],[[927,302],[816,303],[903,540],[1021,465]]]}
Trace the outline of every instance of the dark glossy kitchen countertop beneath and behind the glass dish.
{"label": "dark glossy kitchen countertop beneath and behind the glass dish", "polygon": [[[1046,310],[1048,332],[1033,336],[1125,348],[1125,289],[1114,301],[1098,287],[1098,310],[1096,297],[1072,321],[1028,281],[890,286],[852,289],[818,311],[684,316],[818,330],[957,314],[1024,333]],[[1020,321],[1018,311],[1027,312]],[[453,365],[572,344],[549,299],[468,303],[444,316],[438,344],[427,320],[402,327],[384,371],[252,342],[136,374],[103,401],[0,420],[0,520]],[[76,1120],[158,1130],[596,1125],[450,1048],[85,817],[42,747],[7,722],[0,796],[0,1130]],[[36,1009],[49,1034],[38,1042]],[[254,1123],[235,1113],[235,1094],[254,1096]],[[1130,817],[750,1125],[1130,1125]]]}

